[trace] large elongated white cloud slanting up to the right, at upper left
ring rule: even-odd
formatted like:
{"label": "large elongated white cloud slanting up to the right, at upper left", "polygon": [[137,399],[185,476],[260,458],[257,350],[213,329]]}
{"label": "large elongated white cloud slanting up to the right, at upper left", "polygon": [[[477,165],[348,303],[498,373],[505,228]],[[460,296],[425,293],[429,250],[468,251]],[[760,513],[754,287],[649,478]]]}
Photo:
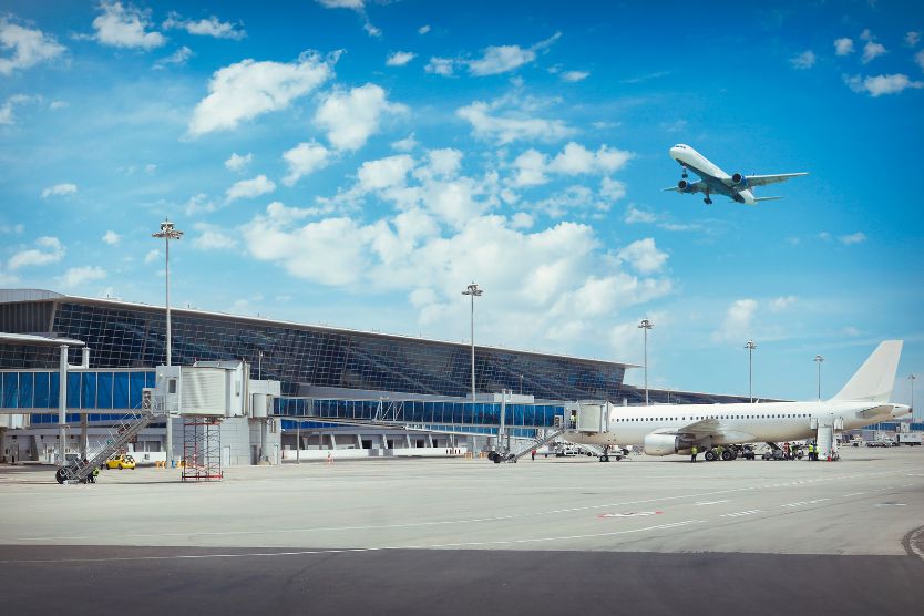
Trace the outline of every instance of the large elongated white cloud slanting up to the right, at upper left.
{"label": "large elongated white cloud slanting up to the right, at upper left", "polygon": [[333,74],[337,58],[304,52],[295,62],[243,60],[217,70],[208,82],[208,96],[196,105],[189,134],[236,129],[242,121],[288,107]]}

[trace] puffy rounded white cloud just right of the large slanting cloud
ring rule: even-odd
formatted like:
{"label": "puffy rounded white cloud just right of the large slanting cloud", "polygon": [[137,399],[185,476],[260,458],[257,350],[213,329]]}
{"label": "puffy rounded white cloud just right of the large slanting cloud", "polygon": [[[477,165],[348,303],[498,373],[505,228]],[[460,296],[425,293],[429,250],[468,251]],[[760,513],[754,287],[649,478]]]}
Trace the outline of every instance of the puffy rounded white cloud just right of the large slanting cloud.
{"label": "puffy rounded white cloud just right of the large slanting cloud", "polygon": [[359,150],[378,132],[383,115],[405,111],[404,105],[389,102],[380,86],[367,83],[349,92],[335,90],[328,94],[315,113],[315,124],[327,131],[336,150]]}

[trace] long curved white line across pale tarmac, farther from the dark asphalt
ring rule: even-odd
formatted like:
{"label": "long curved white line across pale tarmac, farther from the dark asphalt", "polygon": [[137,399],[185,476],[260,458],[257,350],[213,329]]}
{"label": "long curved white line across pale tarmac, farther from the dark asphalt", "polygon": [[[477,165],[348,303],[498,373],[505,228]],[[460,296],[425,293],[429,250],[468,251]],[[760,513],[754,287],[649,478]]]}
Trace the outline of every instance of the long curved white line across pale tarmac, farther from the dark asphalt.
{"label": "long curved white line across pale tarmac, farther from the dark asphalt", "polygon": [[[811,480],[797,480],[799,481],[800,486],[804,486],[807,483],[817,483],[817,482],[830,482],[830,481],[839,481],[844,479],[864,479],[864,478],[872,478],[872,476],[880,476],[880,475],[891,475],[894,474],[895,471],[886,471],[881,473],[865,473],[865,474],[856,474],[856,475],[835,475],[831,478],[818,478]],[[780,485],[797,485],[795,482],[789,482],[784,484],[773,484],[770,486],[777,487]],[[388,530],[388,528],[413,528],[413,527],[427,527],[427,526],[446,526],[446,525],[454,525],[454,524],[479,524],[484,522],[503,522],[509,520],[522,520],[526,517],[540,517],[545,515],[559,515],[559,514],[567,514],[567,513],[579,513],[585,511],[593,511],[599,509],[615,509],[615,507],[624,507],[628,505],[644,505],[650,503],[663,503],[667,501],[692,501],[696,499],[702,499],[708,496],[721,496],[726,494],[736,494],[741,492],[752,492],[756,490],[766,490],[769,487],[768,485],[752,485],[749,487],[730,487],[728,490],[716,490],[712,492],[702,492],[699,494],[678,494],[674,496],[659,496],[656,499],[643,499],[640,501],[627,501],[627,502],[618,502],[618,503],[606,503],[599,505],[586,505],[579,507],[567,507],[567,509],[558,509],[558,510],[548,510],[548,511],[540,511],[540,512],[527,512],[527,513],[512,513],[509,515],[495,515],[495,516],[485,516],[485,517],[471,517],[471,519],[458,519],[458,520],[437,520],[432,522],[408,522],[402,524],[368,524],[368,525],[358,525],[358,526],[315,526],[310,528],[263,528],[256,531],[204,531],[204,532],[185,532],[185,533],[125,533],[125,534],[114,534],[114,533],[101,533],[95,535],[60,535],[60,536],[31,536],[31,537],[16,537],[12,541],[28,541],[28,542],[49,542],[49,541],[81,541],[81,540],[93,540],[93,538],[107,538],[112,540],[114,537],[133,537],[133,538],[154,538],[154,537],[194,537],[194,536],[244,536],[244,535],[269,535],[269,534],[280,534],[280,533],[317,533],[317,532],[353,532],[353,531],[377,531],[377,530]],[[0,536],[0,540],[3,537]],[[9,541],[9,540],[3,540]]]}

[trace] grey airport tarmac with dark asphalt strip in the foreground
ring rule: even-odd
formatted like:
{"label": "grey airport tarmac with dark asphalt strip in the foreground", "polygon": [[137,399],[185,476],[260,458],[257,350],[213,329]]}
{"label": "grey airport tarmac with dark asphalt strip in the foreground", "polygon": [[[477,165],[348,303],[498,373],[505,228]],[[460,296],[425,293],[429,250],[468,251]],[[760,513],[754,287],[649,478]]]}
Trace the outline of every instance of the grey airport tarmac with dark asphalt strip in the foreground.
{"label": "grey airport tarmac with dark asphalt strip in the foreground", "polygon": [[0,609],[924,613],[924,448],[842,454],[0,466]]}

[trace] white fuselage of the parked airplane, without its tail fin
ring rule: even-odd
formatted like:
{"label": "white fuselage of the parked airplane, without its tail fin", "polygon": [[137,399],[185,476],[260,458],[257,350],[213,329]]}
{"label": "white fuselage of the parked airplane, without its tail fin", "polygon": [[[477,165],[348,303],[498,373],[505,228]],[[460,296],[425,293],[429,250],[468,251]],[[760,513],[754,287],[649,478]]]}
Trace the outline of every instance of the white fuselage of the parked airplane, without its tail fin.
{"label": "white fuselage of the parked airplane, without its tail fin", "polygon": [[797,441],[815,435],[812,420],[843,421],[844,430],[863,428],[907,414],[907,407],[891,402],[819,401],[737,404],[659,404],[612,407],[607,432],[567,435],[575,443],[627,445],[641,443],[648,434],[681,434],[686,427],[715,420],[712,432],[681,438],[687,446],[710,443]]}

